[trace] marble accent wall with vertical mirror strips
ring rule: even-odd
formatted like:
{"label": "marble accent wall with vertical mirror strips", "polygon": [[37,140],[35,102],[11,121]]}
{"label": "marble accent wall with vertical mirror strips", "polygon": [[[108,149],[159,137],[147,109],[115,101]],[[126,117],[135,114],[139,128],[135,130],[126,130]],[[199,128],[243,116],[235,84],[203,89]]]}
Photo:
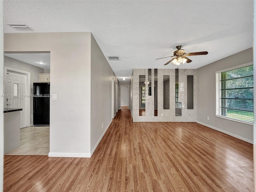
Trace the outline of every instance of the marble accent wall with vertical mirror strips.
{"label": "marble accent wall with vertical mirror strips", "polygon": [[[151,70],[154,77],[154,69]],[[175,69],[158,69],[158,116],[154,116],[154,88],[152,96],[146,96],[146,116],[139,116],[140,82],[139,75],[148,78],[148,69],[134,69],[132,81],[133,122],[196,122],[196,69],[179,69],[179,102],[182,103],[182,116],[175,116]],[[170,109],[164,109],[163,76],[170,75]],[[194,76],[194,109],[187,109],[187,75]],[[154,81],[152,81],[154,87]],[[148,90],[148,85],[146,85]]]}

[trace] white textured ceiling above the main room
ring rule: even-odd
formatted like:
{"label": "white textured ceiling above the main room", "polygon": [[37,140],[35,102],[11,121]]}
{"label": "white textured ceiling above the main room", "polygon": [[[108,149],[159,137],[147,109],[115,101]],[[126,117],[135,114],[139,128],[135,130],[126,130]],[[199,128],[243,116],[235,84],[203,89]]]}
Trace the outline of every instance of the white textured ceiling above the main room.
{"label": "white textured ceiling above the main room", "polygon": [[[31,32],[92,32],[119,81],[133,68],[164,66],[177,45],[199,68],[253,46],[253,0],[4,0],[4,23],[23,23]],[[4,25],[5,33],[19,33]],[[26,32],[26,31],[25,31]]]}

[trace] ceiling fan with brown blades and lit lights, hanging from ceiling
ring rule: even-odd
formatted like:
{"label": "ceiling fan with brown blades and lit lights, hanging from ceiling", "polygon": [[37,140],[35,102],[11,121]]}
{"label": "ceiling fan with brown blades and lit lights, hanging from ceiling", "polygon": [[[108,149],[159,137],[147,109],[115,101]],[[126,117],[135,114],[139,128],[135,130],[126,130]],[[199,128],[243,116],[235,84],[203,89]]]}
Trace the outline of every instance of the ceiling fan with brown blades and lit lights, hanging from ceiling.
{"label": "ceiling fan with brown blades and lit lights, hanging from ceiling", "polygon": [[[173,56],[168,56],[168,57],[176,57],[172,58],[170,61],[168,61],[164,65],[168,65],[170,62],[172,62],[174,65],[180,65],[181,63],[190,63],[192,60],[187,58],[187,56],[194,56],[194,55],[207,55],[207,51],[202,51],[202,52],[193,52],[193,53],[185,53],[186,50],[181,49],[182,45],[176,46],[178,50],[173,52]],[[158,59],[163,59],[163,58],[168,58],[168,57],[162,57]]]}

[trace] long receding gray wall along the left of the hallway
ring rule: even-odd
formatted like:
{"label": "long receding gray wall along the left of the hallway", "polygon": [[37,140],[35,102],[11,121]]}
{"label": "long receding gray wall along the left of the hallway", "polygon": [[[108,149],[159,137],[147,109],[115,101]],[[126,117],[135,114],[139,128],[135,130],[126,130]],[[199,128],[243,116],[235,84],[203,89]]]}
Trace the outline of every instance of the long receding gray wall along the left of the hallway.
{"label": "long receding gray wall along the left of the hallway", "polygon": [[[112,122],[112,77],[118,83],[106,57],[91,35],[91,153],[94,152]],[[90,92],[88,91],[88,93]],[[114,86],[114,92],[116,92],[116,85]],[[116,94],[114,94],[115,100]],[[114,111],[117,112],[116,102],[114,103]]]}

